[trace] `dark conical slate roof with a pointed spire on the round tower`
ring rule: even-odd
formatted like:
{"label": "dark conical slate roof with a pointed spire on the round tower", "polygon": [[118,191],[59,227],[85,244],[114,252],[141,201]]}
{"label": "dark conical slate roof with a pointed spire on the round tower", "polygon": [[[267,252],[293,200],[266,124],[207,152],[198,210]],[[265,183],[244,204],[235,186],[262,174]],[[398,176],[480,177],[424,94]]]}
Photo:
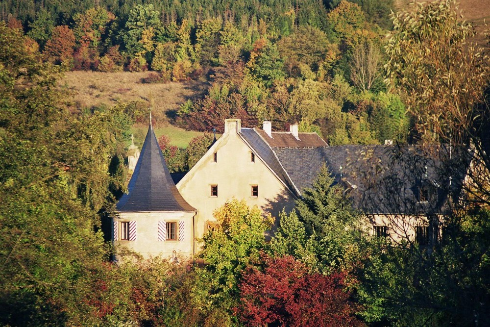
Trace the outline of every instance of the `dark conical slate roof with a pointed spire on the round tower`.
{"label": "dark conical slate roof with a pointed spire on the round tower", "polygon": [[151,125],[127,188],[116,204],[119,212],[196,211],[175,187]]}

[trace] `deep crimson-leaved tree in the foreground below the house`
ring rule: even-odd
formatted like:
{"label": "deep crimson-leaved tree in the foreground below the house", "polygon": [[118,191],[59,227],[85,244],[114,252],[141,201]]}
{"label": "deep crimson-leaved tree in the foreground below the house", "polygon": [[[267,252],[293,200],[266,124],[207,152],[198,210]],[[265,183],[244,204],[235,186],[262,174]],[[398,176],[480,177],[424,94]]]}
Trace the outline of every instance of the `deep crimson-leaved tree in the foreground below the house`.
{"label": "deep crimson-leaved tree in the foreground below the house", "polygon": [[344,274],[310,273],[292,256],[264,256],[263,271],[246,270],[236,308],[248,326],[362,326],[356,305],[344,290]]}

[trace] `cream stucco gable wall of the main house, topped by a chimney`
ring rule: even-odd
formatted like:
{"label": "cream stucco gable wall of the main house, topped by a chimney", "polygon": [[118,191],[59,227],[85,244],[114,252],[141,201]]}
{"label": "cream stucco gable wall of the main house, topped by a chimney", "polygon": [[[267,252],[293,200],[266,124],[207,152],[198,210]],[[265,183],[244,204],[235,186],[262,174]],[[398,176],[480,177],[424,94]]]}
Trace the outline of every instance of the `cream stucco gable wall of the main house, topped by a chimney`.
{"label": "cream stucco gable wall of the main house, topped by a chimney", "polygon": [[[213,211],[233,197],[245,199],[264,212],[277,217],[283,208],[292,210],[294,195],[271,172],[237,133],[238,120],[226,120],[225,132],[196,165],[176,185],[184,199],[197,209],[196,237],[201,238],[206,222],[216,221]],[[217,160],[214,162],[214,153]],[[211,185],[218,185],[218,196],[211,196]],[[252,197],[252,185],[258,185],[258,197]]]}

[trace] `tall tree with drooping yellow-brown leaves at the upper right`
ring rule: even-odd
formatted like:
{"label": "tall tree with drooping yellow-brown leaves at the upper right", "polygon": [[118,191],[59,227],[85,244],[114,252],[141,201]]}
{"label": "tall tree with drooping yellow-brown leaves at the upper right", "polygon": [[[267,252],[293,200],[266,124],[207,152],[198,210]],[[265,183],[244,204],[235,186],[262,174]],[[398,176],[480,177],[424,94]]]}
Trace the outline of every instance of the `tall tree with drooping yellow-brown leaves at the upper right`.
{"label": "tall tree with drooping yellow-brown leaves at the upper right", "polygon": [[417,133],[424,141],[465,143],[489,83],[489,58],[471,43],[472,26],[459,20],[453,1],[441,0],[392,20],[386,67],[407,94]]}

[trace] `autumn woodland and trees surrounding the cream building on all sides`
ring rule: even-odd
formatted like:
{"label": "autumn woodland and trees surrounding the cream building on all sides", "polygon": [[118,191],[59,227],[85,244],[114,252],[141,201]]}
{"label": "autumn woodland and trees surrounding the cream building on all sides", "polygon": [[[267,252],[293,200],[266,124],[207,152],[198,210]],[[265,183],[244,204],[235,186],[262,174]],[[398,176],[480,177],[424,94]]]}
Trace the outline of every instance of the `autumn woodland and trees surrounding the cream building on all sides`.
{"label": "autumn woodland and trees surrounding the cream building on all sides", "polygon": [[[0,323],[489,325],[489,58],[472,43],[488,39],[451,1],[390,14],[393,6],[2,1]],[[151,94],[88,104],[62,79],[80,70],[138,72],[141,90],[192,90],[173,107]],[[92,98],[104,92],[88,88]],[[429,247],[369,236],[324,169],[268,242],[273,218],[234,199],[200,240],[207,265],[134,253],[116,265],[101,226],[124,191],[129,135],[147,125],[149,106],[161,128],[220,132],[234,117],[280,130],[298,123],[331,145],[471,144],[478,169]],[[190,169],[212,140],[195,135],[181,148],[160,137],[172,171]]]}

